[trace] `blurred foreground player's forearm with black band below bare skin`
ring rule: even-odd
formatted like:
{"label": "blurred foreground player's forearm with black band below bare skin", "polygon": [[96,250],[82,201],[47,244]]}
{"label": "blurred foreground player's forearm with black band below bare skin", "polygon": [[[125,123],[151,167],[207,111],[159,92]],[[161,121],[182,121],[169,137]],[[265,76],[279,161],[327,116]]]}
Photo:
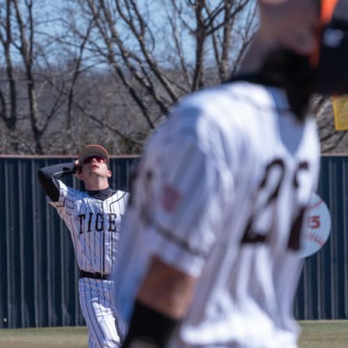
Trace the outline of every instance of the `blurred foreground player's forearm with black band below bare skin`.
{"label": "blurred foreground player's forearm with black band below bare skin", "polygon": [[136,343],[166,347],[175,326],[187,313],[196,279],[161,260],[152,260],[139,289],[129,331],[122,348]]}

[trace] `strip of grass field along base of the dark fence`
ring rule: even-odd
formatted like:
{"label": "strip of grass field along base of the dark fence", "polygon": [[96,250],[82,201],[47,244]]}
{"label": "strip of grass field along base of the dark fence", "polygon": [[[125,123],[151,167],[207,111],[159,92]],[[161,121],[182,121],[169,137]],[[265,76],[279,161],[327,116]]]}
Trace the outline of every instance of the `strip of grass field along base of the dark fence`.
{"label": "strip of grass field along base of the dark fence", "polygon": [[[300,348],[347,348],[348,320],[300,322]],[[87,347],[86,327],[0,329],[1,348]],[[282,348],[282,347],[279,347]]]}

